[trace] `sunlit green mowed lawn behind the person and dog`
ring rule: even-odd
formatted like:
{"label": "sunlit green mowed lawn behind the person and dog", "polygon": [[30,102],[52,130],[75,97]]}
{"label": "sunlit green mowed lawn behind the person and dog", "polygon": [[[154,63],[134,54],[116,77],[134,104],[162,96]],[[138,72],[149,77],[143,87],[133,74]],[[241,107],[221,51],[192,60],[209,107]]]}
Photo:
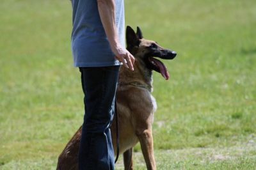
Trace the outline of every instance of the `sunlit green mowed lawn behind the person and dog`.
{"label": "sunlit green mowed lawn behind the person and dog", "polygon": [[[125,5],[127,25],[178,53],[169,81],[154,73],[158,169],[256,169],[256,1]],[[71,16],[68,0],[1,1],[0,169],[55,169],[82,123]]]}

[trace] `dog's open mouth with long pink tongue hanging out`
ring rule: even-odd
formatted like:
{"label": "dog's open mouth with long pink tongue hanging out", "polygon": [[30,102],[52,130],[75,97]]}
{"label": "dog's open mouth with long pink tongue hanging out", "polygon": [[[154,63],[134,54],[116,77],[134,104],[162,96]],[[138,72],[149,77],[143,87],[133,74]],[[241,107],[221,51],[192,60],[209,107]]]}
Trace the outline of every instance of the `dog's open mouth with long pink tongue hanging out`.
{"label": "dog's open mouth with long pink tongue hanging out", "polygon": [[168,72],[166,66],[164,65],[164,63],[162,63],[160,60],[153,58],[153,57],[149,57],[148,61],[151,65],[150,67],[152,67],[153,70],[161,73],[161,75],[164,77],[164,79],[166,79],[166,80],[169,79],[170,75],[169,75],[169,72]]}

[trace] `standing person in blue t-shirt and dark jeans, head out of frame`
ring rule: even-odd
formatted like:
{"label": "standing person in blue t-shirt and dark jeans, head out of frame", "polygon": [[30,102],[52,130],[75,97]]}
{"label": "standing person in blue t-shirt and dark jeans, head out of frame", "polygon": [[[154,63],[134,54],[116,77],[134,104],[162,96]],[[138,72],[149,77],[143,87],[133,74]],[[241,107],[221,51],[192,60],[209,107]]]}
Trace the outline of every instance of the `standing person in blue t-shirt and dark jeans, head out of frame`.
{"label": "standing person in blue t-shirt and dark jeans, head out of frame", "polygon": [[118,71],[133,70],[125,49],[124,0],[72,0],[71,47],[84,92],[79,169],[114,169],[109,126],[113,120]]}

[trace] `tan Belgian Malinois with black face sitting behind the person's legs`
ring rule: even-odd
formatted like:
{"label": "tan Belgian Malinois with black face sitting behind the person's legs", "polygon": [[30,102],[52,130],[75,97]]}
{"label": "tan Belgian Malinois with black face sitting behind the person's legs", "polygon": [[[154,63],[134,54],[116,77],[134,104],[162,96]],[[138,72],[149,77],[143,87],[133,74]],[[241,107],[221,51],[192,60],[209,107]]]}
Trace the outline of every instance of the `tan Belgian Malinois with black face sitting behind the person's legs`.
{"label": "tan Belgian Malinois with black face sitting behind the person's legs", "polygon": [[[166,66],[156,58],[173,59],[176,52],[164,49],[156,42],[143,38],[140,27],[136,33],[127,26],[127,50],[135,58],[134,71],[121,66],[116,103],[120,134],[120,153],[124,156],[125,169],[133,169],[132,147],[140,142],[147,169],[156,169],[154,159],[152,123],[156,111],[156,100],[151,95],[152,71],[161,73],[164,79],[169,79]],[[156,57],[156,58],[155,58]],[[116,117],[111,125],[113,148],[116,155]],[[81,127],[70,139],[58,158],[57,169],[78,169],[78,150],[81,137]]]}

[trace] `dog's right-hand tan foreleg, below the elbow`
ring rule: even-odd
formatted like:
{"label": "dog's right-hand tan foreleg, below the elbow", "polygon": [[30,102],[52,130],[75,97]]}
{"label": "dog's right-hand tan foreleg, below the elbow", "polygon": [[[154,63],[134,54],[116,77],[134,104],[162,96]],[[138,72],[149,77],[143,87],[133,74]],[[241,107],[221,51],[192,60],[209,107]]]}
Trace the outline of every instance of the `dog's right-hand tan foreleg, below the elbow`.
{"label": "dog's right-hand tan foreleg, below the elbow", "polygon": [[147,164],[148,170],[156,170],[156,162],[154,158],[154,148],[153,148],[153,136],[152,128],[149,127],[145,130],[140,130],[136,132],[136,135],[139,138],[141,150],[143,157]]}

